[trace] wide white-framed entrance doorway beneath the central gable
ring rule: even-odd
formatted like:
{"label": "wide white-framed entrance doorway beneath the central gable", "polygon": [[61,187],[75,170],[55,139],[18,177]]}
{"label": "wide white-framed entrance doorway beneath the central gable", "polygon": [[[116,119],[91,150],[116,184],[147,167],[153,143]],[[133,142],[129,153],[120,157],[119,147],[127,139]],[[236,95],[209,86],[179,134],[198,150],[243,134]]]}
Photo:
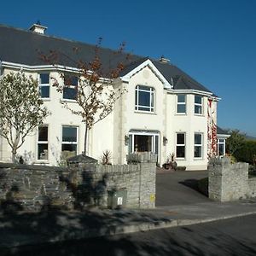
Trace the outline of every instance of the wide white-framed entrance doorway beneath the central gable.
{"label": "wide white-framed entrance doorway beneath the central gable", "polygon": [[159,154],[159,132],[130,131],[129,153],[152,152]]}

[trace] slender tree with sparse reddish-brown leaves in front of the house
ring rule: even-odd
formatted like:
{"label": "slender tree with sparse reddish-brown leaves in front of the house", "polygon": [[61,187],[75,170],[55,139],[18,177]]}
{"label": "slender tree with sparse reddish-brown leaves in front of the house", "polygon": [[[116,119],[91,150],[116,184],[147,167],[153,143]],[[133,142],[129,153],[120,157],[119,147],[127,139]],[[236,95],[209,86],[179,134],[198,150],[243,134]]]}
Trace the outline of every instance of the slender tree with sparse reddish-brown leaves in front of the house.
{"label": "slender tree with sparse reddish-brown leaves in front of the house", "polygon": [[[71,113],[78,115],[82,118],[85,124],[84,133],[84,152],[86,155],[87,137],[88,131],[102,119],[105,119],[109,113],[113,111],[114,103],[125,92],[121,88],[116,88],[114,81],[119,78],[119,74],[124,69],[124,63],[119,61],[114,67],[102,67],[102,61],[100,56],[102,38],[99,39],[98,44],[95,47],[95,55],[91,61],[74,61],[70,56],[64,53],[50,51],[49,55],[41,55],[41,59],[45,62],[54,63],[58,62],[58,59],[67,58],[69,61],[73,61],[78,68],[76,75],[79,79],[79,83],[76,86],[75,101],[79,105],[79,110],[72,108],[71,104],[65,101],[61,101],[61,104],[71,111]],[[120,44],[119,49],[114,52],[115,55],[121,55],[124,50],[125,44]],[[76,53],[79,49],[74,49]],[[114,57],[114,55],[113,55]],[[128,60],[129,55],[125,55],[123,60]],[[72,85],[72,79],[68,79],[68,73],[61,73],[61,78],[65,79],[65,83],[59,83],[57,79],[54,79],[54,86],[56,89],[63,93],[63,90]]]}

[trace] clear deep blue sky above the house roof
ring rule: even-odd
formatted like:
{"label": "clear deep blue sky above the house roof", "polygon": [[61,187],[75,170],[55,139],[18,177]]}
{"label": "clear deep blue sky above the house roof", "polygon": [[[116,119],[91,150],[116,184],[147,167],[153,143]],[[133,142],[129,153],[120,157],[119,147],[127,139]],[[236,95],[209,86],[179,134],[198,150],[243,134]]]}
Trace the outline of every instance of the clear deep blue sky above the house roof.
{"label": "clear deep blue sky above the house roof", "polygon": [[256,137],[255,0],[3,1],[0,24],[172,64],[221,98],[218,126]]}

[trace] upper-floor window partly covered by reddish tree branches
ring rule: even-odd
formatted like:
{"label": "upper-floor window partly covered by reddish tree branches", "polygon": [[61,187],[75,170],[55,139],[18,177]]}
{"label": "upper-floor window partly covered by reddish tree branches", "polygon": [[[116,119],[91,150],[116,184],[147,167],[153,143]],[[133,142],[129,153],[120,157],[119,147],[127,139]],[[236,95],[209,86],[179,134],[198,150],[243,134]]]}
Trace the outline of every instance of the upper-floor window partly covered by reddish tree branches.
{"label": "upper-floor window partly covered by reddish tree branches", "polygon": [[79,85],[79,78],[77,76],[65,74],[63,99],[75,100],[77,96],[78,85]]}

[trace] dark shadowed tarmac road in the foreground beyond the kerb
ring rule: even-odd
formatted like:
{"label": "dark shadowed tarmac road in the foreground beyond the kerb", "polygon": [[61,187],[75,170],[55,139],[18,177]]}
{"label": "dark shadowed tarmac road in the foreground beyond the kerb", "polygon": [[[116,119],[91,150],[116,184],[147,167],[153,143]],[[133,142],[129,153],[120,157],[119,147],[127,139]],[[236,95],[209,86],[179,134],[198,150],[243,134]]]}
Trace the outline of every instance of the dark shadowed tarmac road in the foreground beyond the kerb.
{"label": "dark shadowed tarmac road in the foreground beyond the kerb", "polygon": [[254,214],[172,229],[22,247],[9,255],[256,255],[255,221]]}

